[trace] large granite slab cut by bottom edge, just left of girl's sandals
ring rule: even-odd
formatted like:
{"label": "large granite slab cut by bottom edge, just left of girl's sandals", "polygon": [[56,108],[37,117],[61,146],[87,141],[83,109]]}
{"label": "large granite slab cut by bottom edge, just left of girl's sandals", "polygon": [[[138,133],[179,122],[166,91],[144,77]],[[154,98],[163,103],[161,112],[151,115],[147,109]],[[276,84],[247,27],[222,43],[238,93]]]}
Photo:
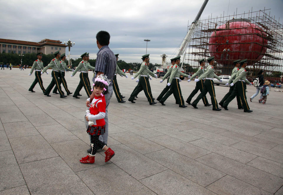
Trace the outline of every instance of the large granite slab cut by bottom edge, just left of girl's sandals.
{"label": "large granite slab cut by bottom edge, just left of girl's sandals", "polygon": [[19,166],[31,194],[93,194],[61,157]]}

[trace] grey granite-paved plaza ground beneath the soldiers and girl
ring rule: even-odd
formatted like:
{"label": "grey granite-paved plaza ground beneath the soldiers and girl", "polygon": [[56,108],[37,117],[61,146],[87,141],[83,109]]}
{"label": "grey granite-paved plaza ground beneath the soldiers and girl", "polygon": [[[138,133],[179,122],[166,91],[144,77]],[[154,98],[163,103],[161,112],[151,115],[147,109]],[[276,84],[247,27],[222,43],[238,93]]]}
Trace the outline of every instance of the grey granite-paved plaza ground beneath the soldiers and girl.
{"label": "grey granite-paved plaza ground beneath the soldiers and girl", "polygon": [[[271,88],[262,105],[259,96],[249,101],[255,87],[247,86],[252,113],[236,99],[229,111],[202,101],[179,108],[173,95],[166,106],[149,105],[143,92],[132,104],[137,83],[118,76],[126,103],[113,94],[108,110],[116,155],[104,163],[100,151],[94,164],[81,164],[89,148],[85,90],[80,99],[47,97],[38,84],[29,92],[29,71],[0,71],[0,194],[283,194],[283,92]],[[65,78],[74,92],[79,74]],[[42,80],[47,88],[50,74]],[[150,81],[154,98],[166,85],[159,80]],[[186,100],[195,82],[180,85]],[[218,102],[228,90],[215,86]]]}

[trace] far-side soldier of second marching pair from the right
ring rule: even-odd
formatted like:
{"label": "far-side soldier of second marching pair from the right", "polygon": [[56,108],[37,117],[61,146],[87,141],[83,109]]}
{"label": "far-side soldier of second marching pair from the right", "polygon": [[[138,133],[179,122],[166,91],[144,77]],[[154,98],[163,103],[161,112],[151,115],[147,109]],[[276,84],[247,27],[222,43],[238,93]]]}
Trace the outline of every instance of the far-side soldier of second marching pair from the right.
{"label": "far-side soldier of second marching pair from the right", "polygon": [[[188,80],[188,82],[190,82],[196,76],[200,77],[204,73],[205,59],[203,58],[203,59],[201,59],[198,62],[200,63],[200,67],[198,68],[198,71],[191,76],[191,78]],[[198,82],[196,82],[195,89],[191,92],[191,94],[187,98],[186,102],[188,104],[191,104],[190,102],[192,100],[192,97],[194,97],[195,94],[197,94],[198,90],[200,90],[200,92],[202,92],[203,91],[203,87],[204,87],[204,79],[200,79]],[[203,96],[202,100],[203,100],[204,106],[210,106],[211,105],[210,103],[208,103],[206,95]]]}

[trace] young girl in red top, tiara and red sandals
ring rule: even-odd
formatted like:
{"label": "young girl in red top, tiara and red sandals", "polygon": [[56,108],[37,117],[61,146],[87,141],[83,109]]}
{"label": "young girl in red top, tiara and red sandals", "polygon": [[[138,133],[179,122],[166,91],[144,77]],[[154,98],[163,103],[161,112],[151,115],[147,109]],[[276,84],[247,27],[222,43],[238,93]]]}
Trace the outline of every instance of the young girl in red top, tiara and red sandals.
{"label": "young girl in red top, tiara and red sandals", "polygon": [[99,135],[104,134],[105,132],[105,108],[106,101],[103,94],[107,94],[107,87],[110,83],[110,80],[107,79],[106,75],[99,75],[96,77],[92,94],[88,99],[91,103],[89,108],[89,113],[85,116],[86,121],[89,121],[89,126],[87,129],[88,134],[91,136],[91,153],[86,157],[83,157],[81,163],[94,163],[94,158],[96,150],[102,148],[105,152],[105,162],[108,162],[114,155],[115,152],[108,148],[104,142],[101,142],[98,138]]}

